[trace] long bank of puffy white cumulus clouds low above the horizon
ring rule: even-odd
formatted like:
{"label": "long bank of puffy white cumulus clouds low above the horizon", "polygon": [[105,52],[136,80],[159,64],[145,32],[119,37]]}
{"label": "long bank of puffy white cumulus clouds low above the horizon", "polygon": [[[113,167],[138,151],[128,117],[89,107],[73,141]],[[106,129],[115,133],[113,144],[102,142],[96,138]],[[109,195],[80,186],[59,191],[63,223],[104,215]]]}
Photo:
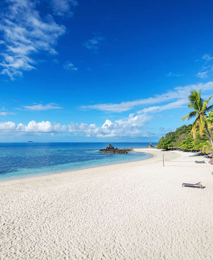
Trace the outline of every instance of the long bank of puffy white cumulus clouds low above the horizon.
{"label": "long bank of puffy white cumulus clouds low above the horizon", "polygon": [[[30,121],[27,125],[23,123],[15,124],[14,122],[1,122],[0,135],[5,134],[50,134],[50,133],[70,133],[75,136],[85,137],[148,137],[151,132],[145,132],[143,126],[152,116],[130,114],[126,120],[105,120],[101,127],[95,124],[73,123],[68,126],[59,123],[51,123],[49,121],[36,122]],[[154,135],[154,133],[152,133]]]}

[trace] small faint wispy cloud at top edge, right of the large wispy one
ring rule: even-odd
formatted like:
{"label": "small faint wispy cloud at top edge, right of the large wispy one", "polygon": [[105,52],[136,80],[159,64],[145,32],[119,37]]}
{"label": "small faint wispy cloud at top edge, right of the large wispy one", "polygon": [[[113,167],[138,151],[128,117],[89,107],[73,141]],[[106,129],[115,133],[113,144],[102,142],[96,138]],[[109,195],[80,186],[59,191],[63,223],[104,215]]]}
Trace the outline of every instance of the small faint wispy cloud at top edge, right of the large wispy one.
{"label": "small faint wispy cloud at top edge, right of the large wispy one", "polygon": [[75,0],[51,0],[53,13],[58,16],[73,16],[73,7],[78,5]]}

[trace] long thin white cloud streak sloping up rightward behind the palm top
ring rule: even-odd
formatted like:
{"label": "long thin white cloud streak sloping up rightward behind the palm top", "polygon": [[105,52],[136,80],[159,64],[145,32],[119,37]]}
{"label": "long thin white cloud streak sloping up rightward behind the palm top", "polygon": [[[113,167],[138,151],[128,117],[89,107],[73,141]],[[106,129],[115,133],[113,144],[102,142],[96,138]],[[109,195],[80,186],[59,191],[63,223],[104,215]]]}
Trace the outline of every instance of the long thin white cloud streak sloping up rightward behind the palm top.
{"label": "long thin white cloud streak sloping up rightward behind the palm top", "polygon": [[104,103],[104,104],[95,104],[95,105],[83,105],[80,109],[97,109],[102,111],[111,111],[111,112],[124,112],[134,107],[147,105],[147,104],[157,104],[163,103],[166,101],[176,100],[176,99],[185,99],[188,97],[189,92],[193,89],[202,89],[210,90],[213,89],[213,82],[210,81],[208,83],[199,83],[186,85],[184,87],[176,87],[173,90],[169,90],[166,93],[161,95],[156,95],[154,97],[149,97],[147,99],[138,99],[134,101],[121,102],[119,104],[116,103]]}

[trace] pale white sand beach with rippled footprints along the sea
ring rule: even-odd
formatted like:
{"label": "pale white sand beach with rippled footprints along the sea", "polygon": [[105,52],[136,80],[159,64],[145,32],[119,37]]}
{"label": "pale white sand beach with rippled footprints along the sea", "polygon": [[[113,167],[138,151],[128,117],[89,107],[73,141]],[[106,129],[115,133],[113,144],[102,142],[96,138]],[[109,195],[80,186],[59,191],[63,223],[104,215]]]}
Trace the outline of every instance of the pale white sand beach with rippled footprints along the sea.
{"label": "pale white sand beach with rippled footprints along the sea", "polygon": [[135,151],[156,156],[1,182],[0,259],[213,259],[213,167]]}

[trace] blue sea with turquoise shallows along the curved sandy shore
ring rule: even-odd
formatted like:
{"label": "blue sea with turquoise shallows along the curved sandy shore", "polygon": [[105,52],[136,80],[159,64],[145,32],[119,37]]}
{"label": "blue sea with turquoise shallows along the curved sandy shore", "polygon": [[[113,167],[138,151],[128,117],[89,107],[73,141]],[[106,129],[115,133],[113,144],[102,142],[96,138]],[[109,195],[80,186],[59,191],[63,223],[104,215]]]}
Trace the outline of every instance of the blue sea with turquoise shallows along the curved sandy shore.
{"label": "blue sea with turquoise shallows along the curved sandy shore", "polygon": [[[97,153],[108,143],[0,143],[0,181],[151,158],[147,153]],[[142,148],[149,143],[113,143],[116,148]],[[153,145],[156,143],[153,142]]]}

